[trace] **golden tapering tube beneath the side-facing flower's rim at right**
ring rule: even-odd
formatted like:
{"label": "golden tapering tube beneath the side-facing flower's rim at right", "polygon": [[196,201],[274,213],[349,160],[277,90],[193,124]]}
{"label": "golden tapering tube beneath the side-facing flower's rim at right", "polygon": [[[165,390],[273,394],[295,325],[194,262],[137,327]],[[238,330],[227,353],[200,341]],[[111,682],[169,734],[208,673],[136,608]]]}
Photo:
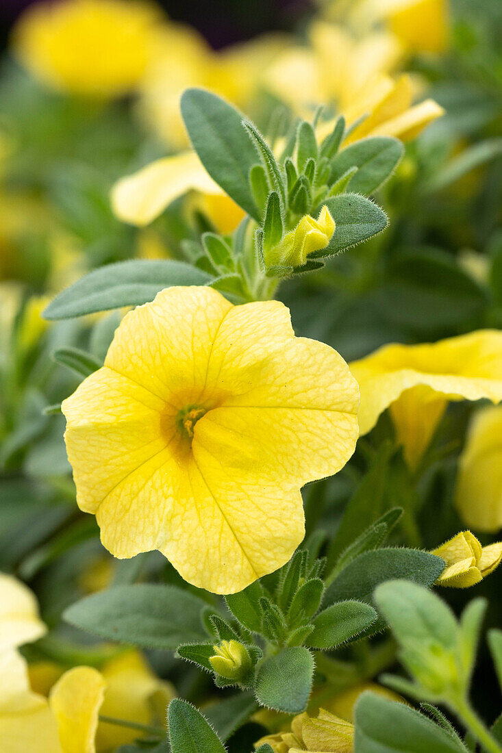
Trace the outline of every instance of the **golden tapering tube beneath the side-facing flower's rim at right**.
{"label": "golden tapering tube beneath the side-facing flower's rim at right", "polygon": [[448,401],[430,387],[418,385],[406,389],[390,406],[396,437],[399,444],[403,444],[410,468],[418,465],[447,405]]}

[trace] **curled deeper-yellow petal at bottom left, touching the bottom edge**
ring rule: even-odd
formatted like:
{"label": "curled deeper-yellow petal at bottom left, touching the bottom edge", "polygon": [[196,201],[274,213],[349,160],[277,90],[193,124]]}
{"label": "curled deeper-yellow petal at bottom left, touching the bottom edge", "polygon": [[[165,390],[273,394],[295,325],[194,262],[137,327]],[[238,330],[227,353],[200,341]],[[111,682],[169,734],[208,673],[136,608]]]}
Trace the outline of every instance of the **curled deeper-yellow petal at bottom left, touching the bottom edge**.
{"label": "curled deeper-yellow petal at bottom left, touching the bottom edge", "polygon": [[65,672],[52,688],[49,704],[64,753],[95,753],[94,740],[105,685],[97,669],[77,666]]}

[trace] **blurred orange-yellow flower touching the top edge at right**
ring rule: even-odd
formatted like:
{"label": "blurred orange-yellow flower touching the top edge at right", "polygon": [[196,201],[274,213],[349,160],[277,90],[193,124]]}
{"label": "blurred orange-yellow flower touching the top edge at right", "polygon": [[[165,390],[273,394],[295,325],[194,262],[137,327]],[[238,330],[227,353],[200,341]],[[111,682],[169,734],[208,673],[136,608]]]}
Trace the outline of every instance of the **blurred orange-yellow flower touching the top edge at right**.
{"label": "blurred orange-yellow flower touching the top edge at right", "polygon": [[442,52],[448,41],[447,0],[375,0],[381,17],[410,52]]}

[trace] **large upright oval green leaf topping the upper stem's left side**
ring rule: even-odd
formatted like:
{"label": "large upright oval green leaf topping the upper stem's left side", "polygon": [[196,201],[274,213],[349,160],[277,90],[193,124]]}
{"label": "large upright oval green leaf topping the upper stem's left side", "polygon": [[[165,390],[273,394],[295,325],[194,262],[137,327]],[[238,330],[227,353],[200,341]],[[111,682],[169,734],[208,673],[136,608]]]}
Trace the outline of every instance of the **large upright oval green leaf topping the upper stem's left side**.
{"label": "large upright oval green leaf topping the upper stem's left side", "polygon": [[181,111],[191,143],[210,176],[248,215],[260,221],[249,173],[256,150],[243,129],[243,115],[224,99],[204,89],[188,89]]}

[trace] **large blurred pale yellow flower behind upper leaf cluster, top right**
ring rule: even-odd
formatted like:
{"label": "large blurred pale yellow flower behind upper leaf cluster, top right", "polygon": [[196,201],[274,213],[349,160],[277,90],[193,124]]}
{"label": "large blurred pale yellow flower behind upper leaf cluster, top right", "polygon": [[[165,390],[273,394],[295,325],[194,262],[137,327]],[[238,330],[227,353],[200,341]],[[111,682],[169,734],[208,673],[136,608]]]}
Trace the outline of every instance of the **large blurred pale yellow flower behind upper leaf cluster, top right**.
{"label": "large blurred pale yellow flower behind upper leaf cluster, top right", "polygon": [[[412,105],[409,76],[390,74],[402,55],[393,35],[374,32],[357,39],[335,24],[311,26],[310,47],[294,47],[278,56],[264,73],[268,89],[307,115],[314,105],[332,104],[348,124],[364,117],[347,142],[365,136],[413,139],[443,114],[433,99]],[[320,138],[333,123],[322,123]]]}

